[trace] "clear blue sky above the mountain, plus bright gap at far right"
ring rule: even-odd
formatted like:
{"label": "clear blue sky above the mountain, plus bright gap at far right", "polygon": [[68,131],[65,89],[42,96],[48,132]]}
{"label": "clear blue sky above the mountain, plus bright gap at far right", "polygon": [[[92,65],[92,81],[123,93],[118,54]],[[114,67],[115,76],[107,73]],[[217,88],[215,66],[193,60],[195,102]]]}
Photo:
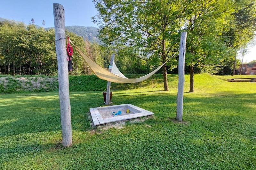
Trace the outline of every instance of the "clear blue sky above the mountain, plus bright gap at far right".
{"label": "clear blue sky above the mountain, plus bright gap at far right", "polygon": [[[66,26],[95,26],[91,17],[97,14],[92,0],[7,0],[1,1],[0,17],[17,21],[25,24],[35,19],[35,24],[42,26],[45,20],[45,27],[54,26],[52,4],[60,3],[65,9]],[[245,55],[244,62],[256,60],[256,45],[249,49]],[[241,57],[238,57],[241,58]]]}

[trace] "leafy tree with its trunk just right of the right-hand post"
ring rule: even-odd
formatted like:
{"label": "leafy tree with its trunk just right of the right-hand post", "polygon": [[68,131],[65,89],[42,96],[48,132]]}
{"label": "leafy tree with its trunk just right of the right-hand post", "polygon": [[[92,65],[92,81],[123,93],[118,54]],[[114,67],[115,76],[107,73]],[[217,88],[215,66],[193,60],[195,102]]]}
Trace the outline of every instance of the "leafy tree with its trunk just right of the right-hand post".
{"label": "leafy tree with its trunk just right of the right-hand post", "polygon": [[231,0],[198,0],[192,2],[185,21],[188,31],[186,64],[189,66],[190,88],[194,92],[194,66],[218,63],[227,49],[222,33],[227,29],[234,2]]}

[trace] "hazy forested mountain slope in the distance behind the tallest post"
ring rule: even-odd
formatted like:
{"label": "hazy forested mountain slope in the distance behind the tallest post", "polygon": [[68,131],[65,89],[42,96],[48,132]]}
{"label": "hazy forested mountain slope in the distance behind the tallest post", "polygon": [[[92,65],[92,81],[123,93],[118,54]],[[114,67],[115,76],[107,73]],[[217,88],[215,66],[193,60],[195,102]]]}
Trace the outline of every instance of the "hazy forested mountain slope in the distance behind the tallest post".
{"label": "hazy forested mountain slope in the distance behind the tallest post", "polygon": [[[54,27],[45,28],[49,30]],[[65,28],[76,35],[82,36],[84,40],[89,40],[90,42],[97,42],[101,44],[100,39],[98,38],[98,28],[93,26],[65,26]]]}

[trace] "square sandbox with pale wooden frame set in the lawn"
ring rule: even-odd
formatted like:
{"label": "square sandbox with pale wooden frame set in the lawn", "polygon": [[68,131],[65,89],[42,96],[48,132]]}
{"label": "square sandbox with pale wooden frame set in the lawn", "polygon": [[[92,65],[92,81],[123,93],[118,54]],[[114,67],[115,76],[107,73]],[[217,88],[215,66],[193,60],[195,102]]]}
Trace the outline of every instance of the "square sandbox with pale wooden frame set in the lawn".
{"label": "square sandbox with pale wooden frame set in the lawn", "polygon": [[[130,113],[126,113],[127,109],[129,109]],[[112,115],[113,112],[118,113],[118,111],[122,112],[121,115]],[[90,113],[92,115],[94,125],[117,122],[154,114],[148,110],[131,104],[90,108]]]}

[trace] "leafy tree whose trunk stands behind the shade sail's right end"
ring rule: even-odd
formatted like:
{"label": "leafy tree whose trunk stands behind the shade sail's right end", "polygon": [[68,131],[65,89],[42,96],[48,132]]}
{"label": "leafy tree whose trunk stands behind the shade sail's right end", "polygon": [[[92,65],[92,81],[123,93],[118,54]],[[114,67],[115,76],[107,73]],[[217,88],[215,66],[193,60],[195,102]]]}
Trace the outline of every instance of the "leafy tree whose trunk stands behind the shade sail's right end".
{"label": "leafy tree whose trunk stands behind the shade sail's right end", "polygon": [[[100,38],[114,48],[129,46],[140,58],[164,63],[179,46],[181,20],[190,1],[94,0]],[[163,66],[168,91],[167,66]]]}

